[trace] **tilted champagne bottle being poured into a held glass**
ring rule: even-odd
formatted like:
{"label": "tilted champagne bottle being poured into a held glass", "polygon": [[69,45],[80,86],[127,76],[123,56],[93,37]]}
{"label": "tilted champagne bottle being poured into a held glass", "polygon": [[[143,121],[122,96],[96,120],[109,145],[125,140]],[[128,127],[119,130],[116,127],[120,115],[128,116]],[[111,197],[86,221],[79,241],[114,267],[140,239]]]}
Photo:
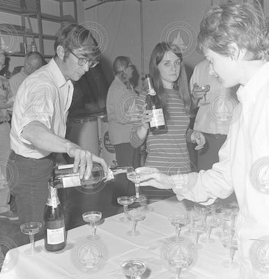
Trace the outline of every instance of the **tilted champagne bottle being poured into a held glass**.
{"label": "tilted champagne bottle being poured into a held glass", "polygon": [[96,183],[106,183],[107,181],[114,179],[116,174],[126,173],[130,166],[109,167],[107,174],[105,174],[102,166],[93,162],[89,179],[79,179],[79,172],[74,173],[73,167],[74,164],[57,165],[54,167],[54,180],[52,186],[54,188],[69,188],[93,185]]}

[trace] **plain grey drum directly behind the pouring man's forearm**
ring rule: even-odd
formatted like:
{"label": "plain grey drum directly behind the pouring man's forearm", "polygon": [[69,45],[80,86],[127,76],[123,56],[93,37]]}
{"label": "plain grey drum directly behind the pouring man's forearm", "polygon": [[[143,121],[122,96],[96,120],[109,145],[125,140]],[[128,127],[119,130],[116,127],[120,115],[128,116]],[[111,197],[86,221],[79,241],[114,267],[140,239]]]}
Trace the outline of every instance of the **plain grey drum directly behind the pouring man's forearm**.
{"label": "plain grey drum directly behind the pouring man's forearm", "polygon": [[69,118],[66,127],[66,139],[99,156],[97,117]]}

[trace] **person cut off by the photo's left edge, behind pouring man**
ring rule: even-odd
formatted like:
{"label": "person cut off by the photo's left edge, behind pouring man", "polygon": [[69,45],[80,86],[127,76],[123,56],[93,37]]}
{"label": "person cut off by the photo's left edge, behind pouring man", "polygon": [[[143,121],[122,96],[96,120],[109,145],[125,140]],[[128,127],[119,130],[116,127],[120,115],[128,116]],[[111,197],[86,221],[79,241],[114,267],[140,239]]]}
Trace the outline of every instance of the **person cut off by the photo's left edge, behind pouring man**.
{"label": "person cut off by the photo's left edge, behind pouring man", "polygon": [[[0,69],[5,63],[5,54],[0,51]],[[10,190],[6,179],[6,165],[10,154],[10,116],[7,109],[11,105],[8,103],[10,98],[10,87],[6,77],[0,76],[0,219],[11,221],[19,220],[16,213],[10,210]]]}

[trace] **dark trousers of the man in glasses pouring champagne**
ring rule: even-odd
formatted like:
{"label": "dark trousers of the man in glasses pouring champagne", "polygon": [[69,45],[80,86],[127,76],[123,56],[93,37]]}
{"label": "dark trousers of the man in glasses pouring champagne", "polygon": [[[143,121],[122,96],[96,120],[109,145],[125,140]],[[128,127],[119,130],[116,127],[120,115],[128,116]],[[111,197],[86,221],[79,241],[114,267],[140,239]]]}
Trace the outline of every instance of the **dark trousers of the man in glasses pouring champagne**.
{"label": "dark trousers of the man in glasses pouring champagne", "polygon": [[20,223],[43,223],[48,181],[54,166],[54,153],[41,159],[25,158],[11,151],[6,169],[10,192],[15,196]]}

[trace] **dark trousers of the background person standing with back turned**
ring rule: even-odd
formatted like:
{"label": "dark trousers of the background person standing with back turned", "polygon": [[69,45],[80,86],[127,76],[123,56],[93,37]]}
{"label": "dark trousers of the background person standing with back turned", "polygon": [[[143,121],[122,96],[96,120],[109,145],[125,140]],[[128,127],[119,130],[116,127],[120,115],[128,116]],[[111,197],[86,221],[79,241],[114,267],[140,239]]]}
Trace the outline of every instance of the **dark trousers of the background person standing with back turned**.
{"label": "dark trousers of the background person standing with back turned", "polygon": [[[140,166],[140,149],[134,149],[130,143],[114,145],[118,165]],[[117,206],[117,197],[132,196],[135,194],[134,183],[127,179],[126,174],[118,174],[114,181],[112,204]]]}

